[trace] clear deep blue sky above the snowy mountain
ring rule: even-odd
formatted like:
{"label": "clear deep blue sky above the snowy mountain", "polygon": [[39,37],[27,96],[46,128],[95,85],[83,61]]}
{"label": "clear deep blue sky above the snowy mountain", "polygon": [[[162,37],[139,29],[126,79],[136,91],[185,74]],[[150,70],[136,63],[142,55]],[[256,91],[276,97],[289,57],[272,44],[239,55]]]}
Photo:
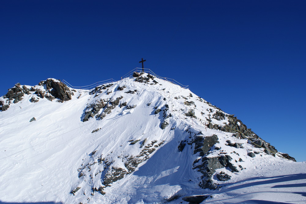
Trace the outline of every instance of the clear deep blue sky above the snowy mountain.
{"label": "clear deep blue sky above the snowy mountain", "polygon": [[306,160],[306,1],[0,1],[0,95],[145,68]]}

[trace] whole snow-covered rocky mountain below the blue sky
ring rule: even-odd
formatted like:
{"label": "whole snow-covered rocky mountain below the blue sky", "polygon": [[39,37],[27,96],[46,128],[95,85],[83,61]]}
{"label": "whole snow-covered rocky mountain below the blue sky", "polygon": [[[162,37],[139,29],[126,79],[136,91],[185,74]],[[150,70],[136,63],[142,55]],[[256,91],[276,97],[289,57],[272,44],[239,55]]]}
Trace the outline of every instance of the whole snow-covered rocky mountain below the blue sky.
{"label": "whole snow-covered rocky mountain below the blue sky", "polygon": [[306,163],[150,73],[0,97],[1,203],[302,203]]}

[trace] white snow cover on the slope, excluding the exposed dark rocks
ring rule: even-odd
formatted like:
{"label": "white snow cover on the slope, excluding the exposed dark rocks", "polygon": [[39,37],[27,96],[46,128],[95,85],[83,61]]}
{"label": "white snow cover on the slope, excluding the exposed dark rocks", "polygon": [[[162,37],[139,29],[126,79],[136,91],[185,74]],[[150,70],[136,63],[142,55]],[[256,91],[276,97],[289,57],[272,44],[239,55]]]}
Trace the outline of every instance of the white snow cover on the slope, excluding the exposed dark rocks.
{"label": "white snow cover on the slope, excluding the exposed dark rocks", "polygon": [[[204,136],[216,134],[220,145],[229,139],[243,140],[232,137],[232,133],[206,129],[198,120],[183,115],[190,107],[184,105],[184,99],[177,100],[174,96],[188,97],[192,94],[188,100],[194,100],[196,108],[192,109],[199,118],[202,117],[201,111],[212,106],[196,100],[197,96],[188,89],[160,79],[157,81],[162,85],[138,83],[130,77],[114,82],[109,88],[112,91],[110,95],[103,92],[95,97],[89,95],[88,90],[76,90],[70,101],[58,103],[43,98],[31,103],[31,93],[24,95],[21,102],[11,104],[8,110],[0,113],[0,203],[187,203],[181,198],[189,195],[211,195],[203,203],[306,203],[306,163],[266,154],[243,157],[242,166],[246,169],[239,173],[225,168],[217,170],[217,173],[222,170],[232,176],[229,181],[215,180],[222,188],[200,188],[201,174],[192,169],[192,163],[198,157],[193,154],[194,147],[186,145],[182,152],[177,148],[179,142],[186,138],[186,128],[193,126]],[[118,91],[117,88],[123,85],[126,88]],[[138,92],[125,93],[134,89]],[[120,102],[137,105],[136,108],[117,106],[102,120],[91,118],[82,122],[87,104],[99,98],[115,99],[120,96],[123,96]],[[151,105],[147,106],[148,103]],[[165,104],[169,105],[173,116],[169,118],[170,125],[162,130],[162,111],[154,114],[154,107],[162,108]],[[32,117],[36,121],[29,123]],[[227,120],[214,120],[217,124],[224,122]],[[97,128],[101,129],[91,133]],[[112,158],[114,164],[125,168],[118,158],[137,155],[141,151],[140,143],[129,145],[129,141],[140,139],[142,142],[145,138],[146,143],[154,140],[165,142],[132,174],[105,188],[105,195],[98,192],[88,194],[92,187],[101,184],[102,178],[97,172],[100,177],[95,177],[88,184],[86,179],[78,177],[77,170],[94,161],[91,152],[96,150],[97,154]],[[244,140],[244,146],[245,149],[234,150],[245,155],[246,149],[254,149],[247,140]],[[233,152],[233,147],[222,148]],[[231,156],[233,160],[239,158],[235,154]],[[99,165],[92,165],[92,172],[99,168]],[[215,176],[213,178],[216,179]],[[81,190],[73,196],[70,191],[78,186]],[[178,199],[166,202],[175,195]]]}

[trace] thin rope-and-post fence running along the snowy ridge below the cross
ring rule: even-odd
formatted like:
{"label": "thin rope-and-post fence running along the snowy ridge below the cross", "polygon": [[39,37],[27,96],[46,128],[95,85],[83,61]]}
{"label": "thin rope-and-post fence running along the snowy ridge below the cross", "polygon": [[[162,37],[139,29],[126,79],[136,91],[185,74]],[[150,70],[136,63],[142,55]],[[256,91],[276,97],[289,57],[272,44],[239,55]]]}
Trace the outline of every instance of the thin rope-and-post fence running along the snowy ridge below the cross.
{"label": "thin rope-and-post fence running along the snowy ridge below the cross", "polygon": [[[127,77],[132,76],[132,74],[133,74],[134,72],[149,73],[149,74],[154,75],[154,76],[155,76],[156,78],[158,78],[158,79],[166,80],[166,81],[168,81],[168,82],[170,82],[170,83],[172,83],[172,84],[176,84],[176,85],[180,86],[181,88],[187,88],[187,87],[188,87],[188,85],[185,86],[185,85],[179,83],[178,81],[176,81],[176,80],[174,80],[174,79],[167,78],[167,77],[161,77],[161,76],[155,74],[152,70],[146,69],[146,68],[144,68],[144,71],[142,71],[142,68],[135,68],[135,69],[129,71],[128,73],[126,73],[125,75],[123,75],[123,76],[121,77],[121,79],[124,79],[124,78],[127,78]],[[96,82],[96,83],[93,83],[93,84],[90,84],[90,85],[87,85],[87,86],[72,86],[72,85],[69,84],[66,80],[62,80],[62,82],[63,82],[64,84],[66,84],[69,88],[76,88],[76,89],[91,89],[91,88],[95,88],[95,87],[97,87],[97,86],[99,86],[99,85],[102,85],[102,84],[113,83],[113,82],[118,82],[118,81],[111,78],[111,79],[107,79],[107,80],[104,80],[104,81],[98,81],[98,82]]]}

